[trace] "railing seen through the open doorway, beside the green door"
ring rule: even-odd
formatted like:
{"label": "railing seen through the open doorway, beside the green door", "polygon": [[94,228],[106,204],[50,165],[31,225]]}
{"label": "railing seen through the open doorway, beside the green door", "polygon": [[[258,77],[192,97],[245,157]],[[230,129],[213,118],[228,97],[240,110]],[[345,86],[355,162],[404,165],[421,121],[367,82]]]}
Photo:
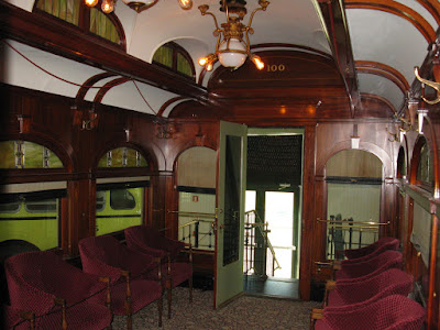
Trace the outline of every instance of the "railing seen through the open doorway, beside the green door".
{"label": "railing seen through the open doorway, beside the green door", "polygon": [[267,234],[267,222],[263,223],[255,210],[244,215],[243,273],[246,275],[274,276],[280,265]]}

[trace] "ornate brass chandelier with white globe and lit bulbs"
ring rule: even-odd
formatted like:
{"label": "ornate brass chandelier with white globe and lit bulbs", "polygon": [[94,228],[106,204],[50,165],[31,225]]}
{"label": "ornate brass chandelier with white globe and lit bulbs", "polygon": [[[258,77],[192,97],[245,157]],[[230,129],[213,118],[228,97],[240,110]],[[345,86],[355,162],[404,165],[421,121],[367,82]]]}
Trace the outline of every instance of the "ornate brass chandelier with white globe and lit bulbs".
{"label": "ornate brass chandelier with white globe and lit bulbs", "polygon": [[[220,11],[227,15],[227,22],[221,24],[221,29],[217,23],[216,15],[208,11],[209,6],[199,6],[201,15],[211,15],[216,24],[216,30],[213,31],[213,35],[217,36],[216,53],[199,59],[199,65],[205,66],[208,72],[212,70],[217,61],[224,67],[237,69],[244,64],[248,57],[255,64],[257,69],[264,68],[262,59],[251,53],[249,35],[254,33],[251,28],[254,14],[260,10],[265,11],[270,1],[258,1],[260,7],[252,12],[248,26],[241,22],[248,13],[245,4],[246,1],[244,0],[221,0]],[[243,36],[245,36],[245,41]]]}

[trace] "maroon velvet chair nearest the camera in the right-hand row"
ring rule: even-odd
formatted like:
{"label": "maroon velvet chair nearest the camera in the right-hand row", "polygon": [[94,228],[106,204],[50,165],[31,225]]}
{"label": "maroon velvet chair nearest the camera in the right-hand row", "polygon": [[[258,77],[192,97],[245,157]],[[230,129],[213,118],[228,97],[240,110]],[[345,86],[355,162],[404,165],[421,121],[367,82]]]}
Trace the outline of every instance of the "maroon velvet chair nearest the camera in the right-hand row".
{"label": "maroon velvet chair nearest the camera in the right-hand row", "polygon": [[316,330],[421,330],[425,309],[416,301],[392,295],[369,304],[326,307]]}

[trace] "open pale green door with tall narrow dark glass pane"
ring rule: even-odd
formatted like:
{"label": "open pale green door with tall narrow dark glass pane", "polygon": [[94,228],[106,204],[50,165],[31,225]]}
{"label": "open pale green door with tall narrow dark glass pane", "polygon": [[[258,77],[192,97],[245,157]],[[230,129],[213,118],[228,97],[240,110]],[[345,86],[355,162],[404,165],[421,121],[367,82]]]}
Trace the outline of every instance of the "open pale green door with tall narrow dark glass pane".
{"label": "open pale green door with tall narrow dark glass pane", "polygon": [[243,292],[245,125],[220,123],[215,308]]}

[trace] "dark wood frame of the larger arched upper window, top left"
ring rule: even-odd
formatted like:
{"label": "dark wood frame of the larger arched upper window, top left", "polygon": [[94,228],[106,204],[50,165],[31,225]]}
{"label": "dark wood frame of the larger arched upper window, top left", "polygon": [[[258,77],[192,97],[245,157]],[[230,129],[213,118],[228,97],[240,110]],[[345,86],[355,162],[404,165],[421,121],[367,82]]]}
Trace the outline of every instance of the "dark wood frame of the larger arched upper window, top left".
{"label": "dark wood frame of the larger arched upper window, top left", "polygon": [[[99,0],[98,4],[95,7],[95,9],[99,10],[100,12],[102,12],[101,9],[100,9],[100,8],[101,8],[101,1],[102,1],[102,0]],[[118,19],[118,16],[116,15],[114,12],[111,12],[111,13],[106,14],[106,15],[107,15],[107,16],[109,18],[109,20],[114,24],[114,28],[116,28],[117,31],[118,31],[119,38],[120,38],[120,43],[119,43],[119,44],[113,43],[113,42],[111,42],[111,41],[109,41],[109,40],[107,40],[107,38],[105,38],[105,37],[98,35],[98,34],[95,34],[95,33],[91,33],[91,32],[90,32],[90,8],[87,7],[87,6],[84,3],[82,0],[80,0],[80,4],[79,4],[79,20],[78,20],[78,25],[75,25],[75,24],[73,24],[73,23],[69,23],[69,22],[67,22],[67,21],[65,21],[65,20],[63,20],[63,19],[59,19],[59,18],[57,18],[57,16],[55,16],[55,15],[53,15],[53,14],[50,14],[50,13],[43,11],[43,10],[40,10],[40,9],[36,7],[36,6],[37,6],[37,2],[38,2],[38,0],[36,0],[35,3],[34,3],[34,9],[33,9],[33,12],[34,12],[34,13],[37,13],[37,14],[40,14],[40,15],[44,15],[44,16],[51,19],[51,20],[56,20],[57,22],[59,22],[59,23],[62,23],[62,24],[66,24],[66,25],[72,26],[72,28],[74,28],[74,29],[79,29],[82,33],[85,33],[85,34],[87,34],[87,35],[90,35],[90,36],[94,36],[94,37],[96,37],[97,40],[99,40],[99,41],[101,41],[101,42],[105,42],[106,44],[109,44],[109,45],[112,45],[112,46],[114,46],[114,47],[121,48],[121,50],[123,50],[124,52],[127,51],[125,33],[124,33],[124,30],[123,30],[123,28],[122,28],[121,21]]]}

